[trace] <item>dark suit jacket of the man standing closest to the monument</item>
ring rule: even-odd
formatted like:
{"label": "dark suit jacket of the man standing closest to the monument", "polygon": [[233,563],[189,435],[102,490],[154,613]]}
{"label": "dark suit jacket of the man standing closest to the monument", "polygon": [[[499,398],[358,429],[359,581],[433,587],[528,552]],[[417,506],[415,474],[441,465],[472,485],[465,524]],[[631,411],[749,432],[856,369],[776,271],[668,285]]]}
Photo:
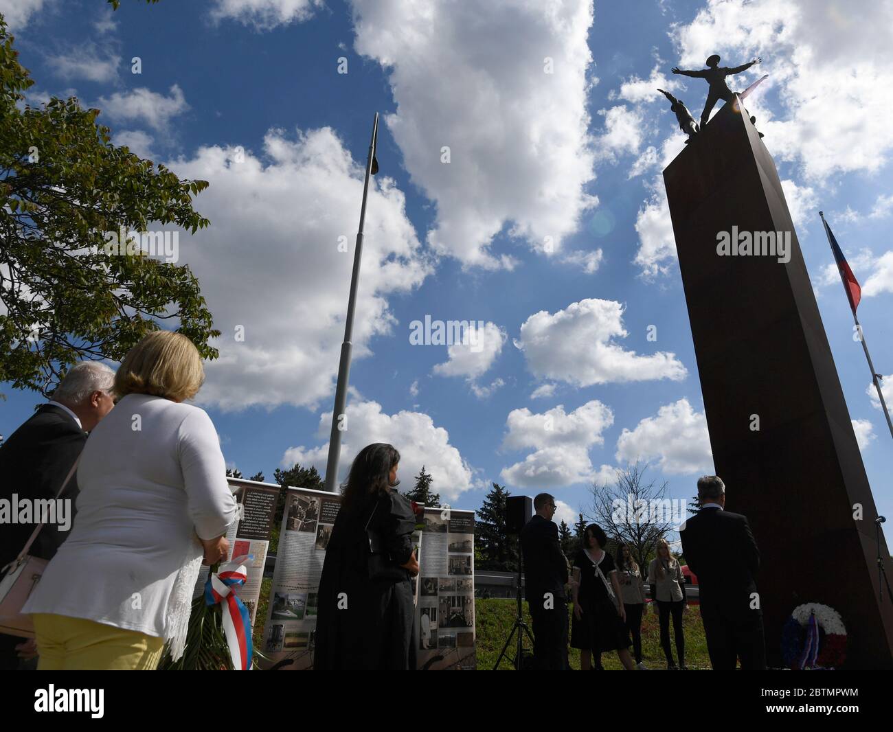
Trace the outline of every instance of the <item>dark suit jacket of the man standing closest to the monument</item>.
{"label": "dark suit jacket of the man standing closest to the monument", "polygon": [[680,531],[682,553],[697,575],[702,611],[704,606],[727,618],[745,618],[751,593],[756,592],[760,551],[747,518],[719,508],[702,508]]}

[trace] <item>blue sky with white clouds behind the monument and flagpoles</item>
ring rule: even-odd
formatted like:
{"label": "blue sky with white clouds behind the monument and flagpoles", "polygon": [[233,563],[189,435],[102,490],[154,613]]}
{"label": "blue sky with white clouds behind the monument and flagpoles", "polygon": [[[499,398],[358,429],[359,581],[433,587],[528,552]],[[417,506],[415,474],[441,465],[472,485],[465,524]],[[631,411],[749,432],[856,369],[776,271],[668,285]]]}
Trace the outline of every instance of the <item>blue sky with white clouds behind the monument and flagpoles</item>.
{"label": "blue sky with white clouds behind the monument and flagpoles", "polygon": [[[636,456],[672,497],[713,471],[660,179],[683,137],[655,89],[699,116],[705,84],[670,69],[714,51],[723,65],[763,57],[732,88],[770,75],[749,108],[785,181],[875,500],[893,514],[888,428],[818,217],[863,284],[865,335],[893,384],[893,110],[878,94],[893,85],[879,30],[890,7],[0,0],[32,104],[79,96],[119,144],[211,182],[195,205],[212,225],[181,234],[179,256],[223,331],[196,401],[230,466],[268,479],[294,461],[325,467],[379,111],[345,457],[391,441],[405,484],[424,463],[456,507],[478,508],[497,481],[552,492],[569,520],[592,479]],[[482,321],[482,350],[411,345],[426,315]],[[8,435],[39,400],[2,390]]]}

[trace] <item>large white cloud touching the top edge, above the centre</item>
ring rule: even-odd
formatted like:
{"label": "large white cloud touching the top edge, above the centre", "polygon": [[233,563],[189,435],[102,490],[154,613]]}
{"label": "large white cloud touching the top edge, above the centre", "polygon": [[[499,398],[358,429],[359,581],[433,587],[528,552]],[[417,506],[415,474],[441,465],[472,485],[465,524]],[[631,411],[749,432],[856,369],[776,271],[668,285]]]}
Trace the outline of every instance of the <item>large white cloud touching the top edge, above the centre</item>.
{"label": "large white cloud touching the top edge, above the centre", "polygon": [[466,266],[512,267],[509,254],[490,251],[508,227],[538,251],[551,237],[559,251],[597,203],[584,190],[595,160],[591,0],[352,5],[355,51],[388,72],[388,129],[437,204],[434,250]]}

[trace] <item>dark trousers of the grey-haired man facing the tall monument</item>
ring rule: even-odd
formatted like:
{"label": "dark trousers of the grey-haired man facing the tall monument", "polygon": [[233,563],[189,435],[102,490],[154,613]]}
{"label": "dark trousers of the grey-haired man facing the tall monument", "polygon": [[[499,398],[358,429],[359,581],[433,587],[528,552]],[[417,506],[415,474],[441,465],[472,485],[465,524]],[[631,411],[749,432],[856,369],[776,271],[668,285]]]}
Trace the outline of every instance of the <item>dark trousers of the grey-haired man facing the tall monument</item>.
{"label": "dark trousers of the grey-haired man facing the tall monument", "polygon": [[766,670],[763,616],[752,611],[744,618],[725,615],[714,603],[701,603],[707,653],[715,671],[733,671],[736,661],[746,671]]}

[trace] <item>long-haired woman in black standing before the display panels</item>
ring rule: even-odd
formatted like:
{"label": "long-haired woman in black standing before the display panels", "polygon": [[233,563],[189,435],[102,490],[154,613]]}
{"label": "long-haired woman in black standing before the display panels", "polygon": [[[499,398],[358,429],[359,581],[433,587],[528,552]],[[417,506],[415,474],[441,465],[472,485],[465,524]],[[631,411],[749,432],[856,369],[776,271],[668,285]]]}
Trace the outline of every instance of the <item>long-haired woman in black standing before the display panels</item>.
{"label": "long-haired woman in black standing before the display panels", "polygon": [[[400,453],[356,456],[322,564],[314,670],[415,670],[412,505],[393,487]],[[374,551],[374,553],[372,553]]]}

